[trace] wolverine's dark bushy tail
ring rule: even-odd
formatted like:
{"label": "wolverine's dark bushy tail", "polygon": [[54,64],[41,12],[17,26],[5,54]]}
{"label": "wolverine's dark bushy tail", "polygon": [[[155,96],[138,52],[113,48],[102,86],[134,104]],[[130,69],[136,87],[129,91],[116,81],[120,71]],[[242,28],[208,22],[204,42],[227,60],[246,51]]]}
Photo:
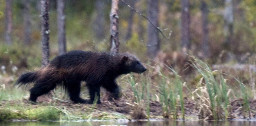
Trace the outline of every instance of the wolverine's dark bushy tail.
{"label": "wolverine's dark bushy tail", "polygon": [[37,78],[36,72],[27,72],[18,78],[15,85],[26,85],[27,83],[34,82],[36,78]]}

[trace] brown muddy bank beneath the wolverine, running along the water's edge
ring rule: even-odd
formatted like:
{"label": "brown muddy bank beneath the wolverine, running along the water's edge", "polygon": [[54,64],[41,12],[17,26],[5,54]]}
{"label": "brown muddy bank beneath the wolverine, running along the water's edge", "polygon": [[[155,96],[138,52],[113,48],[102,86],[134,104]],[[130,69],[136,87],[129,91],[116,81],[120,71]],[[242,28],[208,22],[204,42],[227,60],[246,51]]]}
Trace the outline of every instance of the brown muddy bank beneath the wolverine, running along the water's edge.
{"label": "brown muddy bank beneath the wolverine, running along the water's edge", "polygon": [[[12,104],[21,104],[23,107],[27,107],[30,109],[36,109],[40,106],[49,106],[54,104],[55,107],[65,108],[73,115],[88,113],[89,111],[93,114],[93,117],[97,118],[99,113],[119,113],[120,115],[124,115],[127,119],[147,119],[146,115],[146,102],[141,103],[140,105],[135,104],[133,99],[132,92],[128,92],[123,95],[118,101],[108,101],[107,98],[102,98],[102,104],[73,104],[71,101],[61,101],[55,98],[47,98],[46,96],[39,97],[38,103],[31,105],[31,103],[26,99],[15,100],[15,101],[2,101],[0,106],[7,107]],[[230,114],[228,119],[255,119],[256,117],[256,101],[249,99],[250,112],[245,112],[243,109],[243,100],[237,99],[230,102]],[[158,101],[150,101],[150,118],[155,119],[164,119],[164,118],[172,118],[175,113],[163,113],[161,104]],[[32,108],[31,108],[32,107]],[[94,107],[93,110],[90,108]],[[185,109],[185,120],[198,120],[200,115],[198,114],[200,104],[195,100],[190,100],[184,98],[184,109]],[[224,115],[224,112],[222,110]],[[181,107],[178,105],[177,107],[177,116],[178,119],[181,119]],[[202,116],[202,115],[201,115]],[[205,116],[205,115],[204,115]],[[207,116],[207,115],[206,115]]]}

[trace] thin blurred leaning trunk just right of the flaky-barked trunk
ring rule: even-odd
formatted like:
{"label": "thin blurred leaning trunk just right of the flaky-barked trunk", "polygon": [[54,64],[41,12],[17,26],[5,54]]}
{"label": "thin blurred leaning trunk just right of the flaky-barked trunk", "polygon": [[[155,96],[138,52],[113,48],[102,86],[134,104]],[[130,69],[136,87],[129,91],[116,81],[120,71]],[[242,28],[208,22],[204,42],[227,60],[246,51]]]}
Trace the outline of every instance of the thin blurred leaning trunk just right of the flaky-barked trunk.
{"label": "thin blurred leaning trunk just right of the flaky-barked trunk", "polygon": [[[130,6],[134,8],[135,6],[135,0],[130,0]],[[130,9],[130,16],[128,19],[128,28],[127,28],[127,34],[125,37],[125,40],[128,41],[131,38],[131,32],[132,32],[132,24],[133,24],[133,16],[134,16],[134,10]]]}

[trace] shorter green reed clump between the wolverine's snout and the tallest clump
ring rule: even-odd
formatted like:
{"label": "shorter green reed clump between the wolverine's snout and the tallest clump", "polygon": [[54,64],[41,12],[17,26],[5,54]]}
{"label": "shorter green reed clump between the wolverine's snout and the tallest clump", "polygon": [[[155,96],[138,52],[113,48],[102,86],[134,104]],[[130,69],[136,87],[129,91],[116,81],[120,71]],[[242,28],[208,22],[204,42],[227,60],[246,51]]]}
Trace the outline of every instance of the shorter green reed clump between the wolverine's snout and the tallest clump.
{"label": "shorter green reed clump between the wolverine's snout and the tallest clump", "polygon": [[[159,65],[160,66],[160,65]],[[164,74],[163,68],[160,66],[158,75],[161,77],[160,88],[160,103],[163,109],[163,116],[177,119],[178,101],[181,104],[182,119],[185,119],[184,98],[183,98],[183,82],[178,73],[171,67],[164,65],[165,70],[168,71],[167,75]]]}

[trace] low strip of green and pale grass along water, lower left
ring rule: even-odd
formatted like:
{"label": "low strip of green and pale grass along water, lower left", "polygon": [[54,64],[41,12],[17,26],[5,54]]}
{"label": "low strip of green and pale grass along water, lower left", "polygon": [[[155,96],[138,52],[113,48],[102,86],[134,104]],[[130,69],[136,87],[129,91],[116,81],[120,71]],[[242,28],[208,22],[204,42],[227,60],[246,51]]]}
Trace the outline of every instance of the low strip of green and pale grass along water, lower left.
{"label": "low strip of green and pale grass along water, lower left", "polygon": [[27,106],[22,101],[0,104],[0,121],[3,120],[113,120],[113,119],[127,119],[125,115],[111,112],[95,112],[93,107],[87,107],[84,111],[74,111],[72,108],[56,106],[54,104],[48,105],[32,105]]}

